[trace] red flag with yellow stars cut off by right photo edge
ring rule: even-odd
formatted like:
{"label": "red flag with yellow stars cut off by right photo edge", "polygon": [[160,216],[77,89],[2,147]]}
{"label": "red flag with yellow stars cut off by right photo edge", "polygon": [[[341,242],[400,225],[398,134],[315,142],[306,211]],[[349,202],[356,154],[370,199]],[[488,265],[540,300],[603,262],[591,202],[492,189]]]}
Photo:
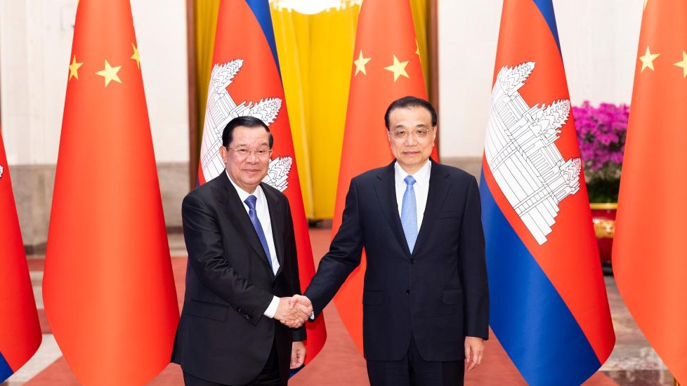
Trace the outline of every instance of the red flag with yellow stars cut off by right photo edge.
{"label": "red flag with yellow stars cut off by right photo edge", "polygon": [[687,382],[687,2],[644,2],[613,272],[649,343]]}

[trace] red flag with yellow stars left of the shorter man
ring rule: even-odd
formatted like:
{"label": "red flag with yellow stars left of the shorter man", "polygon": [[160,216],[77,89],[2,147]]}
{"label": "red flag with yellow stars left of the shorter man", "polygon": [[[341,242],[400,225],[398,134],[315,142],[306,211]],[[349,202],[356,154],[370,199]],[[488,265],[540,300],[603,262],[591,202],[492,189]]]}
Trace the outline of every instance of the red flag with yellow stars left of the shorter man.
{"label": "red flag with yellow stars left of the shorter man", "polygon": [[43,296],[83,385],[144,385],[169,364],[178,305],[129,0],[81,0]]}

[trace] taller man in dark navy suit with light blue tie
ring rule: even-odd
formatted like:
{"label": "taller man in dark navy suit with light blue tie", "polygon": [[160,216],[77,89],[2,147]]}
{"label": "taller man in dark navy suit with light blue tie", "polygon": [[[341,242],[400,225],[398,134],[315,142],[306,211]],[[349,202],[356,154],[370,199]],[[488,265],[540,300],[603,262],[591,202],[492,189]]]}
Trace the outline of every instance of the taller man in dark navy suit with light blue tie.
{"label": "taller man in dark navy suit with light blue tie", "polygon": [[396,100],[385,121],[395,161],[351,180],[339,232],[305,298],[294,298],[311,300],[317,316],[365,248],[370,384],[462,385],[464,368],[480,364],[488,338],[477,181],[430,159],[437,116],[426,100]]}

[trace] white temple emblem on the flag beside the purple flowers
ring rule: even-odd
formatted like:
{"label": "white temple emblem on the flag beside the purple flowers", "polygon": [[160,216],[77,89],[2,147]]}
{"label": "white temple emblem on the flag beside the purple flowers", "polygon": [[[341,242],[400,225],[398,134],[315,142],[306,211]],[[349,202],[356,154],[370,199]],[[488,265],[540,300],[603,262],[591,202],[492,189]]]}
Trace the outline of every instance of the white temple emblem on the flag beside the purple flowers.
{"label": "white temple emblem on the flag beside the purple flowers", "polygon": [[554,142],[570,100],[530,107],[519,89],[535,62],[504,66],[492,89],[485,157],[499,188],[539,245],[556,223],[558,204],[580,190],[580,158],[563,159]]}

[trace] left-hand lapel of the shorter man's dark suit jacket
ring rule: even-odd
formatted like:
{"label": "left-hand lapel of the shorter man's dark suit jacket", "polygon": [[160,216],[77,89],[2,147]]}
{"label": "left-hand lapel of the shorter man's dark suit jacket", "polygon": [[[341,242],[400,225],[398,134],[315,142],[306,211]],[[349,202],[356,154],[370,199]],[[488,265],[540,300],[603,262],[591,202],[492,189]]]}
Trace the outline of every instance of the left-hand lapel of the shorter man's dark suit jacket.
{"label": "left-hand lapel of the shorter man's dark suit jacket", "polygon": [[[219,187],[219,201],[224,201],[225,213],[227,213],[229,219],[236,227],[236,229],[243,235],[243,239],[248,241],[248,244],[253,248],[253,250],[261,256],[263,263],[269,265],[267,262],[267,255],[265,255],[265,250],[263,250],[262,244],[260,244],[260,239],[258,239],[258,234],[255,232],[253,227],[253,222],[248,217],[248,212],[246,207],[243,205],[239,194],[236,192],[234,185],[232,185],[229,180],[227,173],[221,173],[221,183],[218,184]],[[264,190],[264,189],[263,189]],[[270,213],[271,214],[271,213]],[[227,246],[228,247],[228,246]]]}

